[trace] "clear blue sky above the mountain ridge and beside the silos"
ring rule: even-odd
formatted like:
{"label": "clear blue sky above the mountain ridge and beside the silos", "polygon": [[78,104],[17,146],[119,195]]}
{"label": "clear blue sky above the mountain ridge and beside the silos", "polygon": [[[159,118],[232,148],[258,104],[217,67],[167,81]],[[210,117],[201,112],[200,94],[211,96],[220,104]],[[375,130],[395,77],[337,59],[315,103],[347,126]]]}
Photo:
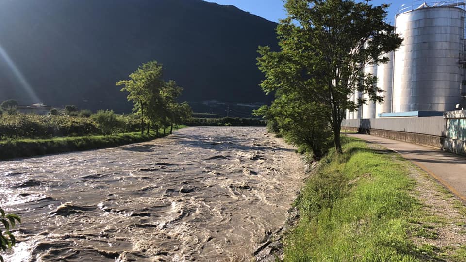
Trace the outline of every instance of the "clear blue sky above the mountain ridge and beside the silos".
{"label": "clear blue sky above the mountain ridge and beside the silos", "polygon": [[[234,5],[239,9],[250,12],[251,14],[258,15],[266,18],[267,20],[278,22],[278,19],[286,17],[286,12],[283,8],[282,0],[205,0],[207,2],[215,2],[224,5]],[[412,0],[373,0],[370,3],[373,5],[380,5],[382,3],[391,4],[388,9],[388,21],[394,21],[395,14],[398,8],[403,3],[411,4]],[[419,3],[420,5],[420,3]]]}

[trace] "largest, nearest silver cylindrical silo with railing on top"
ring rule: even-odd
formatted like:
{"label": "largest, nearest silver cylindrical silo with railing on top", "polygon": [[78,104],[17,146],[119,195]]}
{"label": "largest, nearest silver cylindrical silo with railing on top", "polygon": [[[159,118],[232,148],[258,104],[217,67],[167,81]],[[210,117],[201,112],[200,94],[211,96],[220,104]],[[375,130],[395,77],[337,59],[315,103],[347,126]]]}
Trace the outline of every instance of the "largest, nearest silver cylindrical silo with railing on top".
{"label": "largest, nearest silver cylindrical silo with railing on top", "polygon": [[404,40],[393,64],[393,112],[455,108],[462,82],[464,21],[465,11],[455,6],[424,4],[396,16],[396,33]]}

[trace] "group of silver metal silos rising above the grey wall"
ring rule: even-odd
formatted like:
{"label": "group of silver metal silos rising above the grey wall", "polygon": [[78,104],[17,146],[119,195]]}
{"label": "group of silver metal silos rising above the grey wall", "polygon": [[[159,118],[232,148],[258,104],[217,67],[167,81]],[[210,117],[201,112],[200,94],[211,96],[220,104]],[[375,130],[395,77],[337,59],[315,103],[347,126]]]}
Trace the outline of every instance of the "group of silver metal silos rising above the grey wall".
{"label": "group of silver metal silos rising above the grey wall", "polygon": [[[346,118],[435,116],[455,110],[465,95],[465,13],[464,1],[403,5],[395,17],[401,47],[385,54],[390,62],[364,68],[365,74],[378,77],[384,102],[369,102]],[[350,99],[361,96],[356,91]]]}

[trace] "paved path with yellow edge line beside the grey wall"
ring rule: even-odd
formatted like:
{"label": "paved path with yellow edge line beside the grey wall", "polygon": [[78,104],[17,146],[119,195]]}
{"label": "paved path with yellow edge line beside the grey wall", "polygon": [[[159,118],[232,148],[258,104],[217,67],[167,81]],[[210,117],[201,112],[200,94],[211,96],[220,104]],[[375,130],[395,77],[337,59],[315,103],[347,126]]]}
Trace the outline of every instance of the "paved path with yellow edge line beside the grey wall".
{"label": "paved path with yellow edge line beside the grey wall", "polygon": [[430,147],[419,146],[383,137],[348,134],[377,143],[391,149],[405,159],[412,161],[421,169],[429,173],[443,185],[448,187],[455,195],[466,201],[466,158]]}

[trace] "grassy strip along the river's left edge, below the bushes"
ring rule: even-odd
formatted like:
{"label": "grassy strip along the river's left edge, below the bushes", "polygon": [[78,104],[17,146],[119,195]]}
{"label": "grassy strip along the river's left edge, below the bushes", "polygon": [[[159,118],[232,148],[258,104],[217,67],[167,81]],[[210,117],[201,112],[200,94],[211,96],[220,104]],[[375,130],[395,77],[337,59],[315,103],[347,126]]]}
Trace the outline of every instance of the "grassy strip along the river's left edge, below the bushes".
{"label": "grassy strip along the river's left edge, below the bushes", "polygon": [[[184,126],[180,126],[179,128],[182,127]],[[155,131],[150,131],[150,134],[143,135],[140,132],[132,132],[114,135],[5,140],[0,141],[0,160],[71,151],[84,151],[105,147],[118,147],[126,144],[149,141],[163,136],[164,134],[161,130],[158,136]]]}

